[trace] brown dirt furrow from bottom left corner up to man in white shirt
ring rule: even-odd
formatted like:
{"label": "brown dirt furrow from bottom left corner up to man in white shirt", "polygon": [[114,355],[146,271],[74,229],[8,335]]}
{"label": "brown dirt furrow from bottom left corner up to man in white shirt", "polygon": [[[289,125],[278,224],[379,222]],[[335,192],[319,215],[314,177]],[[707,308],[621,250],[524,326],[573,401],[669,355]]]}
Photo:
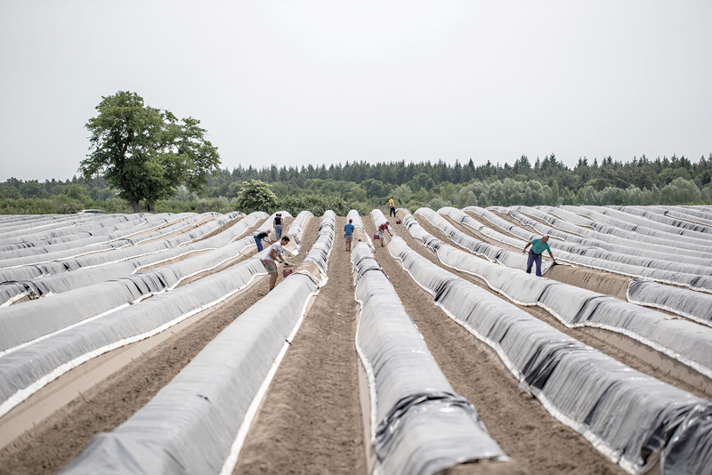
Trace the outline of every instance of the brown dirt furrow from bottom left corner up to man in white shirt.
{"label": "brown dirt furrow from bottom left corner up to man in white shirt", "polygon": [[[303,260],[317,229],[319,220],[312,218],[304,229],[302,249],[292,262]],[[149,402],[208,342],[267,294],[268,282],[267,276],[255,278],[246,289],[206,310],[204,318],[172,334],[4,447],[0,475],[60,471],[94,435],[113,431]]]}

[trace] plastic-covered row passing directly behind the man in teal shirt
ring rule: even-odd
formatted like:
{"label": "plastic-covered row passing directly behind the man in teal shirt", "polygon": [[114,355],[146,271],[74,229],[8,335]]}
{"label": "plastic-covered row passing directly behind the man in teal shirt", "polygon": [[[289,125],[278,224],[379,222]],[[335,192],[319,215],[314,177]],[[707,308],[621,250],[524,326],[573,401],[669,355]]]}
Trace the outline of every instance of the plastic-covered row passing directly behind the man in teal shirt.
{"label": "plastic-covered row passing directly behind the man in teal shirt", "polygon": [[[526,229],[522,229],[488,210],[484,210],[476,206],[468,206],[465,208],[465,211],[472,211],[473,213],[480,214],[487,221],[492,222],[500,229],[504,229],[507,232],[514,234],[514,236],[518,238],[530,240],[538,237],[537,234],[534,234]],[[607,259],[595,259],[585,255],[573,254],[562,250],[562,247],[565,247],[567,244],[562,241],[550,240],[549,243],[550,246],[554,248],[558,247],[554,257],[556,260],[561,262],[568,262],[583,267],[589,267],[591,269],[606,270],[629,277],[651,278],[652,280],[662,282],[664,284],[687,286],[692,290],[712,293],[712,278],[708,276],[698,276],[694,274],[675,272],[672,270],[651,269]]]}

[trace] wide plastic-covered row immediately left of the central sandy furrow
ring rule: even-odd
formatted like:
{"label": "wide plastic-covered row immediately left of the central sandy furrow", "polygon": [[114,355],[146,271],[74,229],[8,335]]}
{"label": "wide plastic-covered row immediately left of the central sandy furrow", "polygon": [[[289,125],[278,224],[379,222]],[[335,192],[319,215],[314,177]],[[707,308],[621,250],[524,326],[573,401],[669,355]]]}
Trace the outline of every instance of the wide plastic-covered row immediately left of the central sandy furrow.
{"label": "wide plastic-covered row immediately left of the central sandy furrow", "polygon": [[[317,243],[333,240],[333,227],[323,226]],[[307,256],[327,267],[321,246]],[[318,292],[305,275],[286,278],[139,412],[94,437],[61,473],[231,473],[289,340]]]}

